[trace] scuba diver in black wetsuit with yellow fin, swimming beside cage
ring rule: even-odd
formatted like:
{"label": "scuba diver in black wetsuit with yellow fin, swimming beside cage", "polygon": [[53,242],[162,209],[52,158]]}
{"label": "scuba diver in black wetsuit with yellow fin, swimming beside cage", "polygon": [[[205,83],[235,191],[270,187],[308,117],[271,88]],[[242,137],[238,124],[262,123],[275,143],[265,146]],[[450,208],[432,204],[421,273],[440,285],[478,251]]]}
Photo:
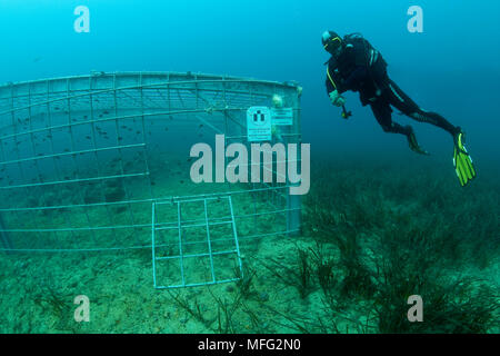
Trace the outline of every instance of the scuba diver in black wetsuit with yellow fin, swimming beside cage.
{"label": "scuba diver in black wetsuit with yellow fin, swimming beside cage", "polygon": [[[423,150],[411,126],[401,126],[392,121],[392,107],[406,116],[440,127],[453,137],[453,166],[463,187],[476,177],[472,159],[467,152],[464,134],[436,112],[426,111],[410,99],[387,73],[387,62],[361,34],[353,33],[341,38],[333,31],[322,34],[322,44],[331,55],[327,62],[327,91],[331,102],[342,108],[342,117],[348,119],[346,99],[341,96],[351,90],[358,91],[362,106],[369,105],[384,132],[401,134],[408,139],[410,149],[420,155],[429,155]],[[327,65],[326,63],[326,65]]]}

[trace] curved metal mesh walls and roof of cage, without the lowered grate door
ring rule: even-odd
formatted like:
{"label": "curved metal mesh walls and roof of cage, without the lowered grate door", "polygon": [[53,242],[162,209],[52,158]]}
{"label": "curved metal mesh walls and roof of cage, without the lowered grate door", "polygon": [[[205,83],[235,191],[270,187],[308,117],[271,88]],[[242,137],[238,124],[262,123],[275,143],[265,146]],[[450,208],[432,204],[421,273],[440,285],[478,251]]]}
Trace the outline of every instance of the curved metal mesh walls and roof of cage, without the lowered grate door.
{"label": "curved metal mesh walls and roof of cage, without the lowered grate door", "polygon": [[[276,93],[294,112],[293,125],[282,129],[283,140],[300,144],[300,92],[294,83],[190,72],[93,72],[1,86],[2,249],[151,248],[146,234],[151,222],[141,219],[142,212],[137,211],[150,211],[156,201],[189,198],[154,189],[160,169],[154,160],[151,134],[148,135],[152,125],[168,121],[172,131],[184,132],[199,125],[213,134],[226,135],[228,145],[244,142],[247,109],[270,106]],[[129,157],[132,152],[133,159]],[[112,159],[114,166],[110,169]],[[140,197],[129,186],[130,181],[139,180],[143,189],[138,190],[147,192]],[[90,200],[86,196],[89,187],[96,191]],[[227,186],[226,190],[201,191],[196,196],[247,192],[248,201],[243,204],[251,201],[254,211],[236,211],[234,218],[250,218],[256,224],[264,214],[284,215],[284,228],[248,235],[256,238],[300,229],[300,199],[289,197],[284,188],[286,185],[266,184]],[[263,212],[263,206],[270,209]],[[127,224],[116,221],[117,209],[128,216]],[[108,222],[93,221],[96,211],[106,214]],[[121,240],[117,234],[123,234],[121,230],[133,231],[134,240]],[[97,241],[102,239],[97,234],[108,233],[114,243],[99,246]],[[246,237],[240,235],[240,238]],[[64,244],[59,243],[62,240]]]}

